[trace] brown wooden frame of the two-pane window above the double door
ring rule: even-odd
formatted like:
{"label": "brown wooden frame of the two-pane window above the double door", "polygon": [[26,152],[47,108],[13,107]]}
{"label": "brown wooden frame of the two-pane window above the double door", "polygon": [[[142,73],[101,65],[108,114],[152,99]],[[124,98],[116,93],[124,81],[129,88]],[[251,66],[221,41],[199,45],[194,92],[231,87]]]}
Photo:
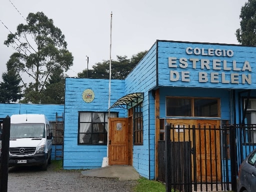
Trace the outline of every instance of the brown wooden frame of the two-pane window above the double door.
{"label": "brown wooden frame of the two-pane window above the double door", "polygon": [[[167,98],[177,98],[177,99],[190,99],[190,114],[191,115],[167,115]],[[207,100],[216,100],[217,101],[217,115],[216,116],[195,116],[194,109],[195,104],[194,101],[196,99],[207,99]],[[181,116],[181,117],[203,117],[203,118],[220,118],[220,98],[218,97],[188,97],[188,96],[165,96],[165,116],[173,117],[173,116]]]}

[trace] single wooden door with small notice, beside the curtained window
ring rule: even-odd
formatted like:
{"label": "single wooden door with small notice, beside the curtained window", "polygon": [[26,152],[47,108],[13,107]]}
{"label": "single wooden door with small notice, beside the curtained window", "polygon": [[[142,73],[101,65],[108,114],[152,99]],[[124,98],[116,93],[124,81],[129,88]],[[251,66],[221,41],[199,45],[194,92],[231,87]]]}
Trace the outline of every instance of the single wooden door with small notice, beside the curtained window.
{"label": "single wooden door with small notice, beside the curtained window", "polygon": [[128,118],[109,118],[108,164],[128,165]]}

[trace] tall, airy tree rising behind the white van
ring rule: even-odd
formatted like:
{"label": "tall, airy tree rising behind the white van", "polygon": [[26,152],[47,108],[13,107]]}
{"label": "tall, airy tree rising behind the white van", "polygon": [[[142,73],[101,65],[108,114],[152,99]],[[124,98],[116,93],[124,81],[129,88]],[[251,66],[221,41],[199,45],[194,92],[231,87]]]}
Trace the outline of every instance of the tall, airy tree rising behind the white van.
{"label": "tall, airy tree rising behind the white van", "polygon": [[27,24],[17,26],[15,33],[8,34],[4,44],[16,50],[10,57],[15,58],[12,67],[19,71],[21,79],[22,73],[26,73],[34,80],[24,83],[23,102],[41,103],[49,77],[56,68],[67,71],[73,56],[66,49],[61,30],[43,12],[29,13],[26,21]]}

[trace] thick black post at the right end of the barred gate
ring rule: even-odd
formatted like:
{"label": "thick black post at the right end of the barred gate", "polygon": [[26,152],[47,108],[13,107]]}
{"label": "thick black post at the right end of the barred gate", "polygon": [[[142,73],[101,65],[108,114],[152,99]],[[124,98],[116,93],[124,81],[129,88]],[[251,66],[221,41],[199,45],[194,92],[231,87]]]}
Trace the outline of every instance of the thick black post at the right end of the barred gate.
{"label": "thick black post at the right end of the barred gate", "polygon": [[236,191],[237,155],[236,155],[236,130],[234,125],[229,127],[230,142],[230,167],[231,167],[231,190]]}

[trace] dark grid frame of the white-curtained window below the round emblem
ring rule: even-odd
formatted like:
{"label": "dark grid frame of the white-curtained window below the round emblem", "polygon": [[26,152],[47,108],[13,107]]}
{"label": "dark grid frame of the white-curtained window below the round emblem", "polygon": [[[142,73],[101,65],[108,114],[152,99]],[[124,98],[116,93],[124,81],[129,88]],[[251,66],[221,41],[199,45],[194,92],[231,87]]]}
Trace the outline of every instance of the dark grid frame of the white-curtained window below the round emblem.
{"label": "dark grid frame of the white-curtained window below the round emblem", "polygon": [[[80,121],[80,117],[81,117],[81,113],[90,113],[90,121]],[[93,121],[93,113],[103,113],[104,114],[104,119],[103,122],[101,121]],[[110,114],[115,114],[115,117],[118,117],[118,112],[110,112]],[[111,116],[111,115],[110,115]],[[82,132],[80,131],[80,124],[81,123],[88,123],[90,124],[90,132],[87,132],[88,129],[86,130],[86,132]],[[99,125],[102,124],[103,127],[103,131],[100,132],[93,132],[93,129],[95,128],[95,125]],[[108,111],[78,111],[78,131],[77,131],[77,144],[78,145],[107,145],[107,130],[104,127],[108,127]],[[90,135],[90,142],[80,142],[80,134],[84,134],[85,135]],[[93,137],[94,136],[99,136],[99,135],[103,134],[103,143],[101,142],[93,142]],[[94,135],[94,136],[93,136]]]}

